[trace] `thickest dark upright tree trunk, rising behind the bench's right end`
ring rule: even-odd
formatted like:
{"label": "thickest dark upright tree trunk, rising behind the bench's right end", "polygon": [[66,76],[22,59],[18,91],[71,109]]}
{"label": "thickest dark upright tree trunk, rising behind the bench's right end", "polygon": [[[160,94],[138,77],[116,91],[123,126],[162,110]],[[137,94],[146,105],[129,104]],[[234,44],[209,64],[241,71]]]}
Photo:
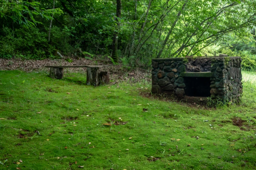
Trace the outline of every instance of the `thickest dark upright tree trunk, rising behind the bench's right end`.
{"label": "thickest dark upright tree trunk, rising behind the bench's right end", "polygon": [[[116,0],[116,25],[117,25],[117,29],[119,29],[120,26],[120,22],[118,21],[118,18],[121,17],[121,0]],[[117,43],[118,43],[118,31],[114,31],[113,34],[113,42],[112,42],[112,59],[114,60],[114,62],[117,63],[118,61],[118,54],[117,54]]]}

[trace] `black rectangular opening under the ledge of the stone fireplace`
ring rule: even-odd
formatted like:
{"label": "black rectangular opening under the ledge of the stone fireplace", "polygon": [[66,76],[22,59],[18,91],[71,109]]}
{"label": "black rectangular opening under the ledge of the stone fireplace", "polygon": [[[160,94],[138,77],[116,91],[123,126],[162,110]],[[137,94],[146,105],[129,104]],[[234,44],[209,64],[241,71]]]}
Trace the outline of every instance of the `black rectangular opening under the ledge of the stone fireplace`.
{"label": "black rectangular opening under the ledge of the stone fireplace", "polygon": [[184,77],[186,85],[185,95],[187,96],[211,96],[211,80],[210,77]]}

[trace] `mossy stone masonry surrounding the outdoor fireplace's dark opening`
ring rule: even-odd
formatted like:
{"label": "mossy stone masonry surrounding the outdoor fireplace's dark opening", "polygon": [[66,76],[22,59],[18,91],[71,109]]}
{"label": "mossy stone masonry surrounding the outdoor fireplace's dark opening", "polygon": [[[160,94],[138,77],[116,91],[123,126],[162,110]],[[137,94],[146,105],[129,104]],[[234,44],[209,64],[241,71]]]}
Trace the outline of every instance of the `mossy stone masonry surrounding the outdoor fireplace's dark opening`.
{"label": "mossy stone masonry surrounding the outdoor fireplace's dark opening", "polygon": [[240,102],[243,92],[241,62],[240,57],[152,59],[151,91],[183,99],[186,85],[181,73],[211,72],[211,97]]}

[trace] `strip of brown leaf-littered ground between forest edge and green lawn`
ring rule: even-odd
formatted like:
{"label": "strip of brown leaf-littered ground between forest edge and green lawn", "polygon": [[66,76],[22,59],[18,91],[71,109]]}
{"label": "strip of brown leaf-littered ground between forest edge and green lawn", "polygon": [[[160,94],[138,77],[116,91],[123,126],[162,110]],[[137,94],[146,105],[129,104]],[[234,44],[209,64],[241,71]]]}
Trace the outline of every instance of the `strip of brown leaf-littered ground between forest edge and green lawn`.
{"label": "strip of brown leaf-littered ground between forest edge and green lawn", "polygon": [[[46,65],[107,65],[108,67],[100,68],[101,71],[107,71],[110,75],[111,80],[121,80],[130,82],[140,82],[140,81],[151,81],[151,70],[142,68],[138,65],[138,67],[134,70],[129,70],[127,67],[123,67],[122,65],[113,65],[109,59],[99,60],[87,60],[84,58],[73,59],[72,63],[65,61],[65,59],[58,60],[21,60],[21,59],[0,59],[0,70],[23,70],[26,72],[32,71],[46,71],[49,73],[49,68],[45,68]],[[85,73],[86,68],[65,68],[65,73]],[[133,78],[132,78],[133,77]]]}

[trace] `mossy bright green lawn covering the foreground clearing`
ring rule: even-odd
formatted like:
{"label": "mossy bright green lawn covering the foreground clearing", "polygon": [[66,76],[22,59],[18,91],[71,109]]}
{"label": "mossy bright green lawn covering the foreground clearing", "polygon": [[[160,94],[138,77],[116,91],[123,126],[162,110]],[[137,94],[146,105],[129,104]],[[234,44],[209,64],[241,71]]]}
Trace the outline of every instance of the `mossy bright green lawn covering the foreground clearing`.
{"label": "mossy bright green lawn covering the foreground clearing", "polygon": [[256,76],[243,76],[243,103],[214,109],[143,97],[146,82],[0,71],[0,169],[255,169]]}

